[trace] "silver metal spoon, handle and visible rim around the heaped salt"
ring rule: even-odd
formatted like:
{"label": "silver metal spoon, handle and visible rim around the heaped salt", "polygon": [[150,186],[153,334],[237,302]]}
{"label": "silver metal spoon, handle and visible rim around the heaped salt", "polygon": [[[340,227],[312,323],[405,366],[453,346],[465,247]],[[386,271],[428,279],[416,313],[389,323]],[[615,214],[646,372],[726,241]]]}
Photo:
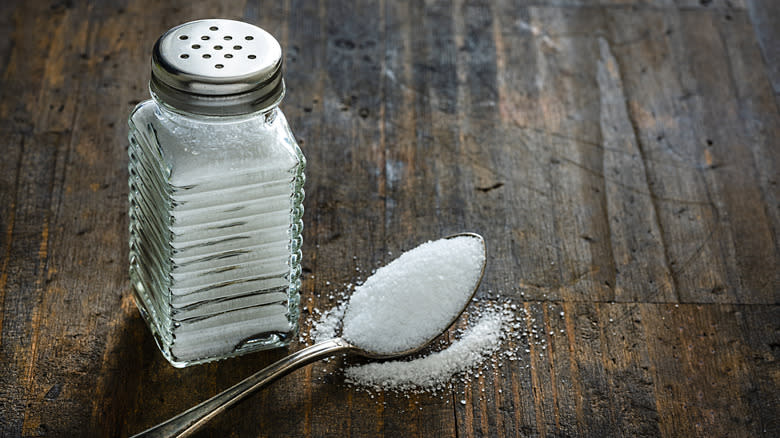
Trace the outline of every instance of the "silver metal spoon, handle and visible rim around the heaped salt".
{"label": "silver metal spoon, handle and visible rim around the heaped salt", "polygon": [[[483,252],[485,251],[485,240],[479,234],[459,233],[459,234],[453,234],[451,236],[447,236],[445,237],[445,239],[453,239],[456,237],[463,237],[463,236],[470,236],[479,239],[480,243],[482,244],[482,250]],[[436,335],[432,336],[430,339],[421,343],[420,345],[406,351],[395,352],[392,354],[379,354],[352,345],[348,341],[342,338],[335,338],[324,342],[320,342],[318,344],[296,351],[295,353],[272,363],[271,365],[256,372],[255,374],[252,374],[251,376],[247,377],[241,382],[215,395],[214,397],[204,401],[203,403],[196,405],[188,409],[187,411],[182,412],[181,414],[165,421],[164,423],[160,423],[157,426],[152,427],[151,429],[147,429],[137,435],[134,435],[132,438],[141,438],[141,437],[170,438],[170,437],[190,436],[193,432],[200,429],[209,420],[216,417],[218,414],[220,414],[222,411],[229,408],[230,406],[233,406],[236,402],[242,400],[249,394],[257,391],[260,388],[265,387],[266,385],[275,381],[276,379],[283,377],[288,373],[304,365],[307,365],[309,363],[312,363],[314,361],[317,361],[325,357],[330,357],[336,354],[348,353],[348,354],[354,354],[357,356],[363,356],[371,359],[390,359],[390,358],[406,356],[408,354],[412,354],[417,351],[420,351],[428,344],[430,344],[434,339],[439,337],[439,335],[447,331],[447,329],[449,329],[449,327],[453,323],[455,323],[455,321],[460,317],[460,315],[466,309],[468,303],[471,302],[471,298],[473,298],[474,294],[476,293],[480,282],[482,282],[482,276],[485,274],[486,260],[487,257],[483,259],[479,277],[477,278],[477,281],[474,284],[469,299],[465,301],[466,304],[463,306],[463,308],[456,315],[453,316],[449,324],[447,324],[447,326],[444,329],[442,329],[440,333],[437,333]]]}

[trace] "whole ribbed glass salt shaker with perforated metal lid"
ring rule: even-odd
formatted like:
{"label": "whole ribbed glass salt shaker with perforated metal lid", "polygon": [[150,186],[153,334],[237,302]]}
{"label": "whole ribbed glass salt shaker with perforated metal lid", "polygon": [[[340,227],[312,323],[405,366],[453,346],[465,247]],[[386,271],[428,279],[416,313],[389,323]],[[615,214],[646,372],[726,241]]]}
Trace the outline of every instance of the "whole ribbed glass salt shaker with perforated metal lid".
{"label": "whole ribbed glass salt shaker with perforated metal lid", "polygon": [[239,21],[154,46],[130,115],[130,279],[176,367],[287,345],[297,332],[306,160],[278,105],[282,50]]}

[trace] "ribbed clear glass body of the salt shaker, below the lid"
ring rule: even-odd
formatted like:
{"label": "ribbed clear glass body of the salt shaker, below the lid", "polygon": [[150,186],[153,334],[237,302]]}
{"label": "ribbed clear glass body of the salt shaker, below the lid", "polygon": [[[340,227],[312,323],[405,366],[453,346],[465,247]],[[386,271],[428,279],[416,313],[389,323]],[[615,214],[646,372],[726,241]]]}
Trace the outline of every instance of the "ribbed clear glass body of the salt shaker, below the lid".
{"label": "ribbed clear glass body of the salt shaker, below the lid", "polygon": [[129,119],[130,279],[177,367],[297,332],[305,159],[282,112]]}

